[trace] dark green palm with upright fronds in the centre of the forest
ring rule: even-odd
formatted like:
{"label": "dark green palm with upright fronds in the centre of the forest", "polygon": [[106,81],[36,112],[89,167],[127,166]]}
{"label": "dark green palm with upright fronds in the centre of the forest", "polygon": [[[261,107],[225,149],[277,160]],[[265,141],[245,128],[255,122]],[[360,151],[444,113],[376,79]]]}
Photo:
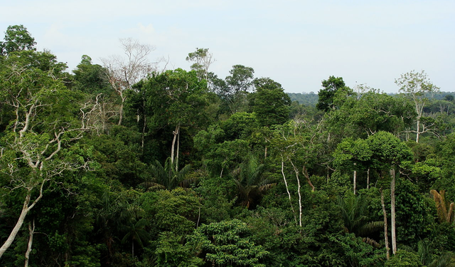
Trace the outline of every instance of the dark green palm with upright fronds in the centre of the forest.
{"label": "dark green palm with upright fronds in the centre of the forest", "polygon": [[264,164],[259,164],[254,155],[250,155],[231,174],[237,184],[240,204],[248,209],[254,208],[262,195],[276,185],[264,175]]}

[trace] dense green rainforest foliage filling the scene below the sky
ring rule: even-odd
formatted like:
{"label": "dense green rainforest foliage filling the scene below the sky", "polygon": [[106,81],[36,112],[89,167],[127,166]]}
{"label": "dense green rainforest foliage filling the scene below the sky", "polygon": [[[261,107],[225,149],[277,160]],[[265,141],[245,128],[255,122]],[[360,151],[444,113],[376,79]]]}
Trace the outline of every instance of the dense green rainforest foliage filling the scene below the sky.
{"label": "dense green rainforest foliage filling the scene below the sky", "polygon": [[451,94],[296,99],[206,48],[120,92],[34,46],[0,43],[1,266],[455,265]]}

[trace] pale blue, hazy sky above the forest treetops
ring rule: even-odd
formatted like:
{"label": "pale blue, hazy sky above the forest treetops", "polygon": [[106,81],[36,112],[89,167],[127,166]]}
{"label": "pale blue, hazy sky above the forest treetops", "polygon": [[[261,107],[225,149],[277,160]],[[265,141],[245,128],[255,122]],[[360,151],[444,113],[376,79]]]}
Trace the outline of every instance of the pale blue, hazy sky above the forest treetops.
{"label": "pale blue, hazy sky above the forest treetops", "polygon": [[133,38],[154,47],[151,62],[168,58],[168,69],[189,70],[188,53],[208,48],[218,77],[252,67],[287,93],[317,93],[331,75],[397,93],[395,79],[411,70],[455,91],[453,0],[3,2],[0,31],[22,24],[69,72],[83,55],[100,65],[122,55],[119,38]]}

